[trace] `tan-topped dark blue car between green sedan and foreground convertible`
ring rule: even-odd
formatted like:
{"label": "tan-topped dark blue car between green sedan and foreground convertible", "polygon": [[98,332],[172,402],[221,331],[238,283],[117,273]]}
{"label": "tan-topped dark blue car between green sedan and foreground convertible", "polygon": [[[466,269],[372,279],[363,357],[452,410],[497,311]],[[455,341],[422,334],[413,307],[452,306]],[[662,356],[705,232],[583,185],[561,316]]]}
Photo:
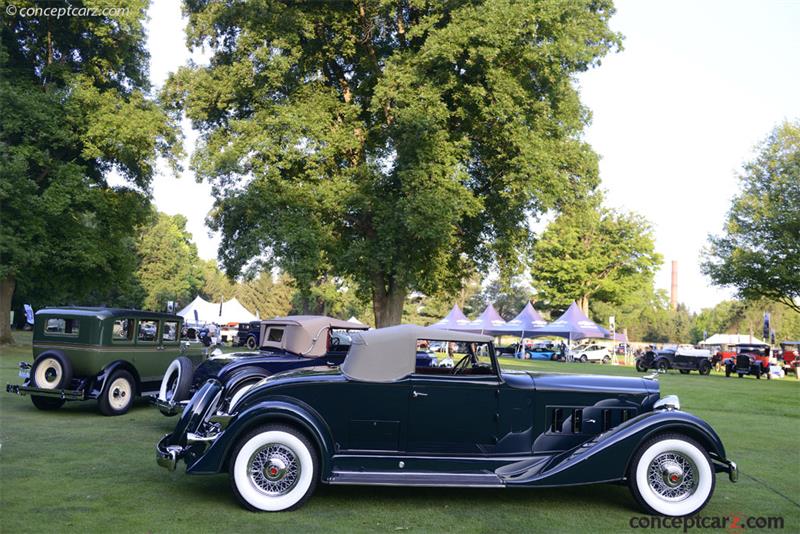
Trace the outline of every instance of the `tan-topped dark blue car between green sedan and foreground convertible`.
{"label": "tan-topped dark blue car between green sedan and foreground convertible", "polygon": [[151,402],[164,415],[175,415],[181,410],[182,401],[191,398],[210,378],[226,385],[225,399],[229,401],[275,373],[340,365],[350,348],[348,332],[369,327],[320,315],[290,315],[261,321],[260,328],[258,351],[227,354],[216,351],[200,365],[193,365],[186,358],[176,358],[164,375],[157,397]]}

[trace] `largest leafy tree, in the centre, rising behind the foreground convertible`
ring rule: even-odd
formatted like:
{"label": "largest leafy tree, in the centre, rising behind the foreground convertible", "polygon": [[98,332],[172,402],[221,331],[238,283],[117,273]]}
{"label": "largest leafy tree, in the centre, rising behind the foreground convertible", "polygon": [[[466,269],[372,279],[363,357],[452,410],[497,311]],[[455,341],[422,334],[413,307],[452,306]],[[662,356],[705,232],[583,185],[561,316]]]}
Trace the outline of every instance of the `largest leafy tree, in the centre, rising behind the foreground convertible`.
{"label": "largest leafy tree, in the centre, rising behind the foreground convertible", "polygon": [[619,44],[610,0],[184,5],[210,62],[164,96],[232,273],[349,277],[395,324],[473,262],[519,272],[531,217],[597,183],[574,76]]}

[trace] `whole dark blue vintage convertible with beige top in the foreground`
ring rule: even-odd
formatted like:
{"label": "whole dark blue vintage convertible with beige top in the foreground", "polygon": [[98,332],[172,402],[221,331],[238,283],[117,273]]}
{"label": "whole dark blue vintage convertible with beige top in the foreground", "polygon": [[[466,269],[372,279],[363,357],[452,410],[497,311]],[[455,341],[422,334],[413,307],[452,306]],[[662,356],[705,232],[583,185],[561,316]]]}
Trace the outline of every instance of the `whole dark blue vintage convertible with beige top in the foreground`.
{"label": "whole dark blue vintage convertible with beige top in the foreground", "polygon": [[[340,367],[276,374],[233,402],[208,380],[157,444],[158,464],[227,471],[254,511],[297,508],[318,483],[613,482],[646,513],[678,517],[705,506],[716,473],[737,479],[719,436],[677,397],[660,398],[655,380],[504,372],[492,338],[478,334],[401,325],[352,336]],[[466,354],[452,368],[419,367],[415,347],[431,338],[460,341]]]}

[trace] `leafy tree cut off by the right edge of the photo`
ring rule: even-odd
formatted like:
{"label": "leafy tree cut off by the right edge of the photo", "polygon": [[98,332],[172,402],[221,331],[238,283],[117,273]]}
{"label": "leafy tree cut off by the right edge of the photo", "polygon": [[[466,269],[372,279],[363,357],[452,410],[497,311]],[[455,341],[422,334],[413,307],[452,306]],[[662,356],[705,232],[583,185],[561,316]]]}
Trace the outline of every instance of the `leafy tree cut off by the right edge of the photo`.
{"label": "leafy tree cut off by the right edge of the photo", "polygon": [[702,270],[740,297],[800,312],[800,121],[775,128],[740,183],[723,234],[709,237]]}

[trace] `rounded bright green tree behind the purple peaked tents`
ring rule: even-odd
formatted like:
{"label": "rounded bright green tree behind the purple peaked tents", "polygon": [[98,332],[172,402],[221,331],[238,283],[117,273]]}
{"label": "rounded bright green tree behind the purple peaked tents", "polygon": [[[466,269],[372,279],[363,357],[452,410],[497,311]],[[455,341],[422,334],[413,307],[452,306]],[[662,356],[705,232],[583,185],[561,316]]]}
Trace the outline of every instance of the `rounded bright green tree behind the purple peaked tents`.
{"label": "rounded bright green tree behind the purple peaked tents", "polygon": [[653,284],[661,264],[649,223],[634,213],[605,208],[592,195],[556,217],[536,242],[531,262],[537,298],[550,305],[589,300],[622,303]]}

